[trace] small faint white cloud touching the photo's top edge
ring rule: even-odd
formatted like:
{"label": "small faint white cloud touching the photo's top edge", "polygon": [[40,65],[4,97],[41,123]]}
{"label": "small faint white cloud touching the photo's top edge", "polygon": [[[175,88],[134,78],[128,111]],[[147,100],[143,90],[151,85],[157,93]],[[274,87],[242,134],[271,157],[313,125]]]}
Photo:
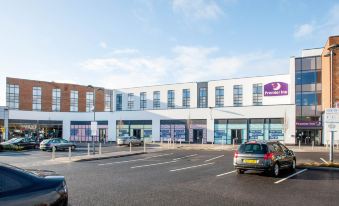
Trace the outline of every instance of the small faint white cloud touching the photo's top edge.
{"label": "small faint white cloud touching the photo's top edge", "polygon": [[195,19],[217,19],[224,12],[213,0],[173,0],[173,10]]}

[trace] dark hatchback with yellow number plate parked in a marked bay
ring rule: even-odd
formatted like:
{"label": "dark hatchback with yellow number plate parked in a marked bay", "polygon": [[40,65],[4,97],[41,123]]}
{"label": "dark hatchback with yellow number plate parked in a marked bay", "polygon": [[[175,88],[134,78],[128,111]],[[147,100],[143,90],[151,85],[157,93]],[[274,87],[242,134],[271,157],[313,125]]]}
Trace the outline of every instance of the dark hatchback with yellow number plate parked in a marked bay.
{"label": "dark hatchback with yellow number plate parked in a marked bay", "polygon": [[233,165],[238,174],[259,170],[278,177],[281,169],[295,169],[296,156],[280,142],[250,141],[234,153]]}

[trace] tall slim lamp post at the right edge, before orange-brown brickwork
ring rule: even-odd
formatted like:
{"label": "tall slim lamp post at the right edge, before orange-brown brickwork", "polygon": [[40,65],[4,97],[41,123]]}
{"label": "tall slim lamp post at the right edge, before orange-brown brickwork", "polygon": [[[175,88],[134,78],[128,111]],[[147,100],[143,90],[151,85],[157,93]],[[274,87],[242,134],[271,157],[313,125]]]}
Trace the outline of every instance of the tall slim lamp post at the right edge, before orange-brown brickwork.
{"label": "tall slim lamp post at the right edge, before orange-brown brickwork", "polygon": [[[329,52],[324,57],[330,57],[330,108],[333,108],[333,56],[336,54],[334,51],[339,48],[339,44],[332,44],[328,47]],[[330,162],[333,163],[333,151],[334,151],[334,131],[331,131],[331,148],[330,148]]]}

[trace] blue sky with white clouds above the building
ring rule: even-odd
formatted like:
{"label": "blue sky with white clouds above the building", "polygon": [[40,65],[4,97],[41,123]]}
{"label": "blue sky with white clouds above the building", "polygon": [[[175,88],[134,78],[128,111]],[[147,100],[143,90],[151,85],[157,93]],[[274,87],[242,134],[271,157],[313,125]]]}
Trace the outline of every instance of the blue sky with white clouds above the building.
{"label": "blue sky with white clouds above the building", "polygon": [[339,2],[0,0],[6,77],[109,89],[285,74],[339,34]]}

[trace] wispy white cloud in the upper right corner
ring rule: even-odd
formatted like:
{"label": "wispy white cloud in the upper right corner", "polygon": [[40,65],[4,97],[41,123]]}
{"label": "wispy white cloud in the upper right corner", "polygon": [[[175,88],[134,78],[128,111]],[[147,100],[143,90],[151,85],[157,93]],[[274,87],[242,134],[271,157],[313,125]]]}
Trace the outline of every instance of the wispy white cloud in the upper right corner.
{"label": "wispy white cloud in the upper right corner", "polygon": [[298,26],[294,32],[294,37],[301,38],[319,38],[339,34],[339,4],[334,5],[325,17],[320,21],[313,21]]}

